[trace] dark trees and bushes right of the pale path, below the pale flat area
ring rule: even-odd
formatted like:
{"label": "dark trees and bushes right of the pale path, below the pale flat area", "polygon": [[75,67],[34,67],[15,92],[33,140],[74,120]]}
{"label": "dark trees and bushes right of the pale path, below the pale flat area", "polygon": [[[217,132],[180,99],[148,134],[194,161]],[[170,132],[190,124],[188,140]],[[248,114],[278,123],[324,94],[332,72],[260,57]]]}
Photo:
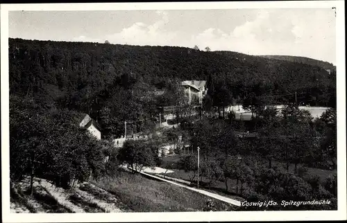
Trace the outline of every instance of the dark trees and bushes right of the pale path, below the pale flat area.
{"label": "dark trees and bushes right of the pale path, below the pale flat area", "polygon": [[[316,120],[295,105],[288,105],[280,114],[272,107],[257,107],[255,113],[259,130],[248,139],[237,137],[232,123],[198,121],[192,133],[194,155],[182,157],[176,168],[187,172],[191,184],[196,184],[198,177],[208,187],[223,181],[227,193],[228,182],[235,181],[233,191],[246,199],[330,199],[330,205],[287,209],[336,209],[336,176],[325,180],[305,174],[306,166],[316,162],[331,161],[330,168],[336,165],[336,139],[332,137],[336,134],[336,111],[328,109]],[[198,146],[201,157],[197,175]],[[275,161],[283,165],[273,166]],[[294,172],[289,171],[291,163]]]}

